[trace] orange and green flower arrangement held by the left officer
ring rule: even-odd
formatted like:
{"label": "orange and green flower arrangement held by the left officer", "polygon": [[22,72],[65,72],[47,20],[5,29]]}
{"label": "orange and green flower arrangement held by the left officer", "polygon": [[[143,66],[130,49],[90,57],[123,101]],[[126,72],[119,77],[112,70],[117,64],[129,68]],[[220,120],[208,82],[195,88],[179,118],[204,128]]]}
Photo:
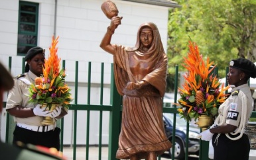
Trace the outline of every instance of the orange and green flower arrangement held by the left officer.
{"label": "orange and green flower arrangement held by the left officer", "polygon": [[60,69],[60,58],[58,58],[56,45],[58,37],[52,36],[52,46],[49,48],[48,60],[44,60],[43,74],[35,79],[35,84],[29,88],[29,102],[35,104],[46,104],[46,108],[52,104],[60,104],[69,108],[72,101],[70,88],[65,83],[65,70]]}

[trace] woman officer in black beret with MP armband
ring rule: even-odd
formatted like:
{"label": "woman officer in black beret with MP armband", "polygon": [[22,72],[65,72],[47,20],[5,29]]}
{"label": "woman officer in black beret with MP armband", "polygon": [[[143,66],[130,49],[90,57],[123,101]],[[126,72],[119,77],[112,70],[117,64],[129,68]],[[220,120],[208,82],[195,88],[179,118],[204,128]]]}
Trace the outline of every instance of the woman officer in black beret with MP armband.
{"label": "woman officer in black beret with MP armband", "polygon": [[253,62],[245,58],[229,62],[227,82],[233,87],[231,95],[220,106],[214,126],[200,134],[202,140],[212,140],[214,159],[249,159],[249,139],[244,131],[253,111],[253,98],[247,84],[250,77],[256,77]]}

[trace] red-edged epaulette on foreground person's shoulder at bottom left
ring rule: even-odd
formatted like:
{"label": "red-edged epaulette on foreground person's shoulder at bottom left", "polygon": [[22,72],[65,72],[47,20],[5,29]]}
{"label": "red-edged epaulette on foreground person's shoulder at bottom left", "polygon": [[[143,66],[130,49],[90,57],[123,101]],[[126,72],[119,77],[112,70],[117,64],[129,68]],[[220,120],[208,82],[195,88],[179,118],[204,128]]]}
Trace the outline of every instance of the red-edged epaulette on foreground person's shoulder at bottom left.
{"label": "red-edged epaulette on foreground person's shoulder at bottom left", "polygon": [[40,145],[24,144],[21,141],[17,142],[17,146],[22,149],[28,149],[29,151],[32,151],[34,153],[38,153],[38,155],[45,155],[48,157],[52,157],[56,160],[65,160],[64,158],[60,157],[59,155],[51,153],[50,149],[47,147],[42,147]]}

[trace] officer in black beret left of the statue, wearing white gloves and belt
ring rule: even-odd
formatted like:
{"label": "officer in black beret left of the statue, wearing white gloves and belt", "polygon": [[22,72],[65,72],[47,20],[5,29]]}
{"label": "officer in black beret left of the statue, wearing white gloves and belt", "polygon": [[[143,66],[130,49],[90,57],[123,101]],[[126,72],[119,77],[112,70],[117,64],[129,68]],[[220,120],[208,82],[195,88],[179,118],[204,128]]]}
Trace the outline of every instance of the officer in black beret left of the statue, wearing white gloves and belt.
{"label": "officer in black beret left of the statue, wearing white gloves and belt", "polygon": [[44,50],[40,47],[31,48],[25,56],[27,61],[25,72],[14,79],[15,85],[7,98],[7,112],[14,116],[17,123],[13,132],[13,143],[22,141],[44,147],[60,149],[60,128],[56,125],[44,126],[43,117],[62,118],[67,114],[63,107],[56,107],[54,112],[42,108],[40,104],[29,103],[29,87],[36,77],[42,75]]}

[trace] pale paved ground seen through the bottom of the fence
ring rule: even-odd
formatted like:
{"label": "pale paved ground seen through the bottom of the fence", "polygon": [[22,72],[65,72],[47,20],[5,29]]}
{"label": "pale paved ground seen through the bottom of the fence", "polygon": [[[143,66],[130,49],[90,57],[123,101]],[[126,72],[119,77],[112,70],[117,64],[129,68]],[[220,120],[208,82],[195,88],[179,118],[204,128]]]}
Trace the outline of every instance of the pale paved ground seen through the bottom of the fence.
{"label": "pale paved ground seen through the bottom of the fence", "polygon": [[[63,155],[66,156],[68,160],[73,160],[74,153],[72,147],[64,147]],[[101,160],[107,160],[108,157],[108,147],[101,148]],[[88,160],[99,159],[99,148],[89,147]],[[190,160],[196,160],[197,157],[189,157]],[[76,147],[76,160],[86,160],[86,147]],[[167,154],[162,155],[160,160],[170,160]]]}

